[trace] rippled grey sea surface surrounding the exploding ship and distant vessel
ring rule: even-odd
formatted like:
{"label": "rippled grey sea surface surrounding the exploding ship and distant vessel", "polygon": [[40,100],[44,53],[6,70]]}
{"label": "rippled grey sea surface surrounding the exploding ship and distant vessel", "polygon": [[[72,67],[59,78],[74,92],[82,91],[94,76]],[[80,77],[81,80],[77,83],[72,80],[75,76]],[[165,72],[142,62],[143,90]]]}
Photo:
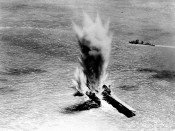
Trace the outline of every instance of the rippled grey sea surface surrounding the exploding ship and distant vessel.
{"label": "rippled grey sea surface surrounding the exploding ship and distant vessel", "polygon": [[[83,101],[71,80],[78,44],[71,23],[82,12],[113,32],[109,79],[133,118],[108,104],[67,111]],[[4,131],[170,131],[175,128],[173,0],[0,0],[0,129]],[[156,47],[129,45],[143,40]]]}

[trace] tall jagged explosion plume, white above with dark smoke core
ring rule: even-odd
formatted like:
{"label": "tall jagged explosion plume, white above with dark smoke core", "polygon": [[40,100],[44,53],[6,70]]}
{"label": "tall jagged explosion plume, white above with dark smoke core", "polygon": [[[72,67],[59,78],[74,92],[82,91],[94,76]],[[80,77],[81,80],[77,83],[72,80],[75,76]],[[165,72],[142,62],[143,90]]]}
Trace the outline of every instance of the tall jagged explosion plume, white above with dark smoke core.
{"label": "tall jagged explosion plume, white above with dark smoke core", "polygon": [[83,13],[83,16],[83,27],[73,23],[81,51],[81,67],[75,71],[74,84],[82,94],[88,90],[98,93],[108,77],[106,69],[112,42],[112,34],[109,32],[110,21],[103,24],[98,14],[95,21],[86,13]]}

